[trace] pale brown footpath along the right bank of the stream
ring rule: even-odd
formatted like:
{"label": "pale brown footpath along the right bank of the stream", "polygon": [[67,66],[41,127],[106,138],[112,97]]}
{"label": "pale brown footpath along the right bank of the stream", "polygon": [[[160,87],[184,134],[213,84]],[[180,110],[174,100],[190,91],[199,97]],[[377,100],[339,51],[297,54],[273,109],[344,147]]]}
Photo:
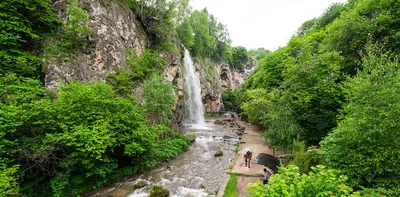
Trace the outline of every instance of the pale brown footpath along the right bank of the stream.
{"label": "pale brown footpath along the right bank of the stream", "polygon": [[[253,164],[253,159],[257,157],[259,153],[268,153],[273,155],[273,151],[264,143],[264,139],[261,136],[260,128],[256,125],[251,125],[249,123],[243,121],[237,121],[239,125],[245,128],[242,139],[240,140],[240,145],[238,148],[238,153],[235,156],[235,159],[232,161],[232,170],[231,173],[239,174],[237,176],[236,186],[239,189],[239,196],[246,196],[247,185],[249,183],[254,183],[257,180],[263,180],[263,168],[264,166]],[[244,148],[251,148],[253,151],[252,161],[250,168],[245,166],[243,155],[241,154]],[[283,152],[275,151],[275,156],[283,155]],[[229,177],[228,177],[229,178]],[[227,182],[228,180],[226,180]],[[223,191],[225,187],[221,188],[220,192],[218,192],[218,197],[223,196]]]}

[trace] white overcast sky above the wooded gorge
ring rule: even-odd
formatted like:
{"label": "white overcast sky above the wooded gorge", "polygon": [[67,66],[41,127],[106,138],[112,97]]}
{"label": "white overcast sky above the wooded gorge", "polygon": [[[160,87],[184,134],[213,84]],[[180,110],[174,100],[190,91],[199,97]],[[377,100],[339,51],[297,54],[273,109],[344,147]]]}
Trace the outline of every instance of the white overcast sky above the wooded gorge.
{"label": "white overcast sky above the wooded gorge", "polygon": [[192,0],[226,24],[233,46],[271,51],[285,46],[303,22],[320,16],[334,2],[347,0]]}

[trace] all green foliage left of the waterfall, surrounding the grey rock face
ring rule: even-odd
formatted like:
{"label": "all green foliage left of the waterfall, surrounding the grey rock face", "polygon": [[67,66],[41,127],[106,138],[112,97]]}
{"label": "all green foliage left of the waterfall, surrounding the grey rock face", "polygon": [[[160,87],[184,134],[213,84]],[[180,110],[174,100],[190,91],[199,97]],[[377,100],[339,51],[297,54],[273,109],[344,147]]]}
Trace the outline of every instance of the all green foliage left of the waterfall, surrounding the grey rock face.
{"label": "all green foliage left of the waterfall, surrounding the grey rock face", "polygon": [[[176,48],[171,32],[187,1],[118,2],[138,9],[151,47]],[[51,1],[0,3],[0,196],[79,196],[154,168],[193,140],[170,128],[176,95],[159,76],[165,62],[156,51],[128,50],[127,68],[109,76],[110,85],[43,87],[42,60],[74,61],[91,47],[84,5],[66,3],[64,25]],[[139,85],[142,104],[134,99]]]}

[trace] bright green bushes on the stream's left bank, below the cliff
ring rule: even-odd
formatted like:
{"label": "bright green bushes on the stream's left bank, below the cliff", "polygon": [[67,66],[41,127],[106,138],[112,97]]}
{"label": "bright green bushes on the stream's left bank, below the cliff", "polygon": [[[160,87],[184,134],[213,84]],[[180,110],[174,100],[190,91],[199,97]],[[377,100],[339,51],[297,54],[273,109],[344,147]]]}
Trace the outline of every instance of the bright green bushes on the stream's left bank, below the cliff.
{"label": "bright green bushes on the stream's left bank, below the cliff", "polygon": [[[14,166],[0,166],[1,174],[10,180],[20,165],[25,195],[78,195],[118,174],[154,167],[187,146],[168,127],[147,124],[134,100],[101,82],[73,82],[52,96],[35,80],[8,75],[0,92],[0,156],[2,165]],[[15,182],[1,187],[13,192],[3,188]]]}

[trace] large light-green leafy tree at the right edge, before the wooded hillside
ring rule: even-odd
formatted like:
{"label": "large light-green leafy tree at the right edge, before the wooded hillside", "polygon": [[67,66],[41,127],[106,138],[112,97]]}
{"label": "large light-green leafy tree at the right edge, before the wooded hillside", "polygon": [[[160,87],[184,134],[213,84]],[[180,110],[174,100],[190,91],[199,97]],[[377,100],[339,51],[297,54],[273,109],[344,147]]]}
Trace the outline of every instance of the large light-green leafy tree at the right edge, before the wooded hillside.
{"label": "large light-green leafy tree at the right edge, before the wooded hillside", "polygon": [[343,120],[323,141],[328,164],[353,186],[400,187],[400,64],[378,45],[368,46],[363,71],[346,83]]}

